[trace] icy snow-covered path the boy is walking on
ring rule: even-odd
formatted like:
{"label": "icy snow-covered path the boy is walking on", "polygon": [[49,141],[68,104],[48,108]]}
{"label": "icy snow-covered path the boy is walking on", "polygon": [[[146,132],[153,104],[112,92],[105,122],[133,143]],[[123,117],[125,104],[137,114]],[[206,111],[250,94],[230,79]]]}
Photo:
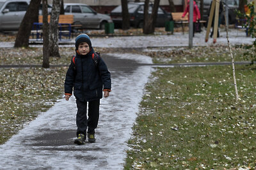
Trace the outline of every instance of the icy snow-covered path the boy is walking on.
{"label": "icy snow-covered path the boy is walking on", "polygon": [[119,62],[109,67],[113,91],[100,103],[96,143],[74,145],[76,99],[60,99],[0,146],[0,169],[123,169],[127,141],[151,71],[151,67],[136,66],[127,59],[152,61],[141,55],[110,55]]}

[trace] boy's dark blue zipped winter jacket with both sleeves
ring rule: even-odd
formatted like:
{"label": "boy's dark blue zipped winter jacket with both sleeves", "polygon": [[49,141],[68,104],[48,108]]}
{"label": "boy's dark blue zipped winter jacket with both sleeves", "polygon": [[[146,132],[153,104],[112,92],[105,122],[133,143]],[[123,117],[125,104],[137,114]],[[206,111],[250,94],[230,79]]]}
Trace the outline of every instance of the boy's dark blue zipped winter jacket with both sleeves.
{"label": "boy's dark blue zipped winter jacket with both sleeves", "polygon": [[93,101],[102,98],[102,89],[111,90],[111,76],[104,60],[99,57],[97,65],[93,62],[92,50],[86,55],[76,52],[75,63],[71,60],[65,79],[65,94],[79,101]]}

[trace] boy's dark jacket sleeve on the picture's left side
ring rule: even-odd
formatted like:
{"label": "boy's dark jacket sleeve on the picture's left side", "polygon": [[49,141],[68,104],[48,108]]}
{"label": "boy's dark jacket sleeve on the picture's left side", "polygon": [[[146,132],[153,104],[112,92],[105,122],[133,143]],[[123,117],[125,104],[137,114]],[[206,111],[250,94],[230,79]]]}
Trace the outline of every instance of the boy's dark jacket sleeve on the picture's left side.
{"label": "boy's dark jacket sleeve on the picture's left side", "polygon": [[65,95],[70,95],[70,96],[72,95],[75,78],[76,78],[75,65],[71,60],[71,63],[68,67],[68,71],[65,78],[65,84],[64,84]]}

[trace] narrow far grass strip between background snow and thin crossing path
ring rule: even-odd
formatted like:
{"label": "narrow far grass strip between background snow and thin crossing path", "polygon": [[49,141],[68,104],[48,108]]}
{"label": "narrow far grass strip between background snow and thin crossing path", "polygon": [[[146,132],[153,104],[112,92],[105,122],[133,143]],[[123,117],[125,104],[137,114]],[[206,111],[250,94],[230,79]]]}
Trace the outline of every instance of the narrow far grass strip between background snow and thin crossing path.
{"label": "narrow far grass strip between background snow and thin crossing path", "polygon": [[[236,61],[250,61],[244,57],[244,53],[252,53],[252,49],[246,46],[233,46],[233,56]],[[195,46],[191,49],[172,48],[153,52],[143,52],[144,55],[152,57],[157,64],[173,64],[186,62],[230,62],[228,46]]]}

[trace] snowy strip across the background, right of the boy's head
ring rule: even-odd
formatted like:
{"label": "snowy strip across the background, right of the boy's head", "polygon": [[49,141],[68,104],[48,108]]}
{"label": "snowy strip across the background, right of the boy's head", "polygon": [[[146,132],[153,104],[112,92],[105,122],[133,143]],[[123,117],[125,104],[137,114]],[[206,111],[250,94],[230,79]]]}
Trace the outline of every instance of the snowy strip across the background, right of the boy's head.
{"label": "snowy strip across the background, right of the boy's head", "polygon": [[[193,38],[193,46],[209,46],[209,45],[227,45],[227,33],[220,32],[220,38],[213,43],[213,39],[209,37],[209,41],[205,43],[206,31],[196,33]],[[246,37],[243,31],[232,29],[228,32],[229,41],[231,45],[252,44],[254,41],[251,37]],[[126,47],[126,48],[147,48],[147,47],[164,47],[164,46],[188,46],[188,32],[174,32],[173,35],[160,36],[122,36],[109,38],[92,38],[93,46],[100,47]]]}

